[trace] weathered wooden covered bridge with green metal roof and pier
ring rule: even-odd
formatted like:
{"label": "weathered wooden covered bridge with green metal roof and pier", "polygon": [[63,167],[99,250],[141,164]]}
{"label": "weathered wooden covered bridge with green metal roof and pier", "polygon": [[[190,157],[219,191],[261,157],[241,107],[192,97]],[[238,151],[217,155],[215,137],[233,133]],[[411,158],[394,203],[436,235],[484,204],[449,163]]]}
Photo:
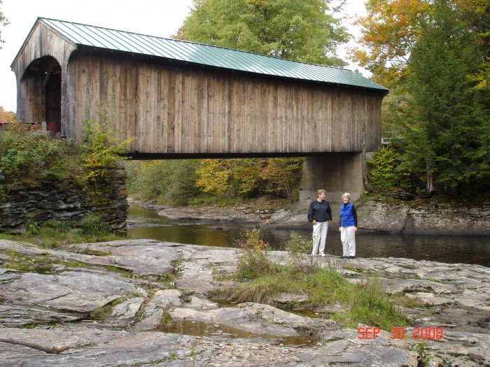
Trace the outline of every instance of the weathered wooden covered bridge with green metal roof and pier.
{"label": "weathered wooden covered bridge with green metal roof and pier", "polygon": [[20,120],[76,141],[113,96],[134,158],[310,157],[303,190],[355,195],[381,141],[387,89],[332,66],[38,18],[11,68]]}

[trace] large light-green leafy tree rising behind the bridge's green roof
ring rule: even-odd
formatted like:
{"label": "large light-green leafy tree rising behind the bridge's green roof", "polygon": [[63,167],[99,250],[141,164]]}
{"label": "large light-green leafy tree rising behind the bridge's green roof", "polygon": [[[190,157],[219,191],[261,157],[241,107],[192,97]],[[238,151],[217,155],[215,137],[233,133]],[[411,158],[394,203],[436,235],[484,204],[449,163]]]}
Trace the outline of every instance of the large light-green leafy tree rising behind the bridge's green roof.
{"label": "large light-green leafy tree rising behind the bridge's green roof", "polygon": [[349,41],[332,0],[194,0],[177,38],[301,62],[344,66]]}

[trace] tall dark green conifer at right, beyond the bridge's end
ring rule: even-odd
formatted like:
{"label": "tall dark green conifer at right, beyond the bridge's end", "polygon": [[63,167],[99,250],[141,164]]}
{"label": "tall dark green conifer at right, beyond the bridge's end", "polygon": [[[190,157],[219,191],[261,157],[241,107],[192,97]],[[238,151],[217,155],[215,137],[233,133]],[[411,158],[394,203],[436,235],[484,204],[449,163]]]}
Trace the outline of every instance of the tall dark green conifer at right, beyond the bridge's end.
{"label": "tall dark green conifer at right, beyond the bridge's end", "polygon": [[444,3],[421,24],[412,48],[412,96],[403,131],[403,166],[424,172],[444,192],[490,178],[489,94],[475,87],[475,34]]}

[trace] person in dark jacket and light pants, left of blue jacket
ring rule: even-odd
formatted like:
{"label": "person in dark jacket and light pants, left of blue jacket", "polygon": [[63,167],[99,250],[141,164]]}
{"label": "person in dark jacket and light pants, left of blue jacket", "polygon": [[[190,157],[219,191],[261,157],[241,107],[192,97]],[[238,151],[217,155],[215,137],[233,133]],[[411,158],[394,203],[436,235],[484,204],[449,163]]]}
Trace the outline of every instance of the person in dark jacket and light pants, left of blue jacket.
{"label": "person in dark jacket and light pants, left of blue jacket", "polygon": [[325,200],[325,190],[318,190],[317,199],[311,201],[308,210],[308,221],[313,223],[313,250],[311,256],[318,251],[325,256],[325,242],[327,240],[328,222],[332,220],[332,208]]}

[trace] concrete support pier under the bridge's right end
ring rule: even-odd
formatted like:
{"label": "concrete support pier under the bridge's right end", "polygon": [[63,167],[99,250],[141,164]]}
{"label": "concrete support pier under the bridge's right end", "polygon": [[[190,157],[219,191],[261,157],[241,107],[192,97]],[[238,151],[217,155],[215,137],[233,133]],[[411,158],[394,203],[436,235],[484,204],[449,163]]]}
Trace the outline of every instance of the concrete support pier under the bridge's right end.
{"label": "concrete support pier under the bridge's right end", "polygon": [[364,191],[362,153],[325,154],[303,160],[300,204],[308,206],[316,199],[318,189],[326,191],[330,203],[342,203],[342,194],[349,192],[356,201]]}

